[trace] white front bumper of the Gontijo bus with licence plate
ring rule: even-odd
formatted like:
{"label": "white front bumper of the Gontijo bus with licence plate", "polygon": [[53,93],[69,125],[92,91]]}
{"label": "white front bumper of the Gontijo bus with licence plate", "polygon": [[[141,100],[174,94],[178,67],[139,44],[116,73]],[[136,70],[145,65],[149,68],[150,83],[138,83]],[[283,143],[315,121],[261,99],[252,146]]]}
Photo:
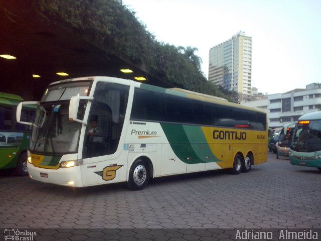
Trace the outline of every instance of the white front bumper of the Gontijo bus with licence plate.
{"label": "white front bumper of the Gontijo bus with licence plate", "polygon": [[29,176],[37,181],[69,187],[83,187],[80,166],[46,169],[27,163]]}

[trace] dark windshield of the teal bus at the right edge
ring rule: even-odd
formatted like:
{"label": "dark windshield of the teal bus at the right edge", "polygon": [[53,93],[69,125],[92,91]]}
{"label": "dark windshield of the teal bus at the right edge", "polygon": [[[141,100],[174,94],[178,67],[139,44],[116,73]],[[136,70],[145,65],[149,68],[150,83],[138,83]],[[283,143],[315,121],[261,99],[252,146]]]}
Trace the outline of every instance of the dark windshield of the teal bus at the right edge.
{"label": "dark windshield of the teal bus at the right edge", "polygon": [[321,150],[321,120],[297,124],[292,138],[291,149],[297,152]]}

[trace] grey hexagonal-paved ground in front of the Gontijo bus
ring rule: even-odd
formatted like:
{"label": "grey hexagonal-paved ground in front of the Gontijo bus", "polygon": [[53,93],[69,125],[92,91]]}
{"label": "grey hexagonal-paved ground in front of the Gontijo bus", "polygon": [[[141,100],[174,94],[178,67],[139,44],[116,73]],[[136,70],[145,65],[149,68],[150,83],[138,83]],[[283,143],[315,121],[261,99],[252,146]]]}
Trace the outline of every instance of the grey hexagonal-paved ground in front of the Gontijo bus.
{"label": "grey hexagonal-paved ground in front of the Gontijo bus", "polygon": [[[116,228],[138,230],[138,239],[153,236],[150,231],[175,230],[175,238],[188,235],[181,240],[199,240],[197,236],[205,240],[206,232],[213,228],[223,232],[235,228],[321,228],[320,175],[316,168],[295,167],[273,154],[267,163],[252,166],[249,173],[230,175],[220,170],[160,178],[141,191],[127,190],[122,184],[73,189],[2,173],[0,228],[48,229],[43,230],[48,234],[44,240],[84,240],[90,235],[93,240],[119,239],[123,236]],[[208,235],[209,240],[217,240]],[[159,240],[169,240],[161,236]]]}

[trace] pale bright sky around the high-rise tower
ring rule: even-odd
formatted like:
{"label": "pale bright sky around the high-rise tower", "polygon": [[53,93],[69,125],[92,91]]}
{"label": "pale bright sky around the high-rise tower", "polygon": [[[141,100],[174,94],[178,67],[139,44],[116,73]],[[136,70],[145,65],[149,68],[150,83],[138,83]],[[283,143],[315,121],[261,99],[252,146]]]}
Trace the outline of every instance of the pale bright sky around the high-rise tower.
{"label": "pale bright sky around the high-rise tower", "polygon": [[319,0],[122,0],[156,40],[192,46],[208,77],[210,48],[252,37],[252,87],[284,93],[321,82]]}

